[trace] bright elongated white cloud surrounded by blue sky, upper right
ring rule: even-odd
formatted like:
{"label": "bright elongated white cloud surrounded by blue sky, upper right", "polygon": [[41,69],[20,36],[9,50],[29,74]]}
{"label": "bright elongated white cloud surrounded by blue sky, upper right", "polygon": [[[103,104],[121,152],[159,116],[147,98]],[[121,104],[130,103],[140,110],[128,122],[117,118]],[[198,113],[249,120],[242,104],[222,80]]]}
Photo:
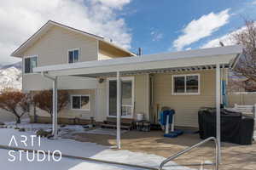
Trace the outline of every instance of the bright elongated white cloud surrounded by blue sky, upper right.
{"label": "bright elongated white cloud surrounded by blue sky, upper right", "polygon": [[192,20],[183,28],[183,35],[177,37],[172,43],[172,47],[181,50],[185,46],[199,41],[201,38],[211,36],[212,32],[218,31],[221,26],[229,22],[229,10],[225,9],[217,14],[202,15],[200,19]]}

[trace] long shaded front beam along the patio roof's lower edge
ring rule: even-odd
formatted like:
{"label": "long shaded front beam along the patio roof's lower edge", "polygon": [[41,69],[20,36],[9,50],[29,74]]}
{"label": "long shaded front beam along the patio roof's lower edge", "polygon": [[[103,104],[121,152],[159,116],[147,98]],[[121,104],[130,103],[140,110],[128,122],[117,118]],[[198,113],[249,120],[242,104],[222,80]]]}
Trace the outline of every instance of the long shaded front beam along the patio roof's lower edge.
{"label": "long shaded front beam along the patio roof's lower edge", "polygon": [[[182,64],[183,63],[183,64]],[[229,62],[205,62],[200,61],[191,61],[191,62],[182,62],[178,63],[172,61],[159,61],[159,62],[145,62],[137,63],[135,65],[109,65],[101,67],[85,67],[85,68],[76,68],[76,69],[61,69],[58,71],[47,71],[51,76],[83,76],[83,77],[98,77],[99,75],[115,75],[116,71],[119,71],[121,74],[143,74],[143,73],[156,73],[160,71],[189,71],[193,67],[198,67],[201,70],[213,69],[214,66],[218,63],[230,67]],[[39,71],[43,71],[44,68],[39,68]]]}

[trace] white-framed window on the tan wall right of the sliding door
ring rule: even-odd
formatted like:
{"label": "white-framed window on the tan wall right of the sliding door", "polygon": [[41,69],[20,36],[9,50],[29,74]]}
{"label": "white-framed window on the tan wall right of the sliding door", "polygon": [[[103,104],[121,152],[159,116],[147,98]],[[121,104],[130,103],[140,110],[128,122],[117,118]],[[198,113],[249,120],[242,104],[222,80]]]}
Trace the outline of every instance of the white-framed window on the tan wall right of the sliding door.
{"label": "white-framed window on the tan wall right of the sliding door", "polygon": [[172,76],[172,94],[200,94],[200,75]]}

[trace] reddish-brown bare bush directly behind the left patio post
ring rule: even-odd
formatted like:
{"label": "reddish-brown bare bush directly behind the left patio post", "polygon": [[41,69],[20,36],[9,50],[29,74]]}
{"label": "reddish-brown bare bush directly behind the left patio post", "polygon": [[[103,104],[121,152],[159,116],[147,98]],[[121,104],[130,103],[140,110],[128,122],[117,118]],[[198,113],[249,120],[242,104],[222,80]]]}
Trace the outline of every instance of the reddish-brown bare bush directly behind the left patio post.
{"label": "reddish-brown bare bush directly behind the left patio post", "polygon": [[[47,111],[52,117],[52,90],[42,90],[33,95],[33,102],[43,111]],[[57,111],[61,111],[68,104],[67,90],[58,90],[58,107]]]}

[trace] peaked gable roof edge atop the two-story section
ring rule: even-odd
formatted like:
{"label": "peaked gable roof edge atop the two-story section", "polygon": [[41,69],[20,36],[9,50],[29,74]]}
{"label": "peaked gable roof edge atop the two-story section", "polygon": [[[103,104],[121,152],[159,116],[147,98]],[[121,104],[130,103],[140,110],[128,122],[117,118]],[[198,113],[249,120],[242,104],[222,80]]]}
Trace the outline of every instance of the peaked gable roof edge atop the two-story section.
{"label": "peaked gable roof edge atop the two-story section", "polygon": [[36,31],[32,37],[29,37],[26,42],[22,43],[20,45],[19,48],[17,48],[12,54],[11,56],[14,57],[22,57],[22,53],[26,50],[26,48],[29,48],[30,46],[32,46],[32,44],[34,42],[36,42],[40,37],[42,37],[47,31],[49,31],[49,29],[51,28],[51,26],[59,26],[61,28],[65,28],[69,31],[74,31],[74,32],[78,32],[81,35],[87,36],[87,37],[92,37],[98,41],[101,41],[103,43],[106,43],[110,46],[113,46],[113,48],[118,48],[119,50],[124,51],[125,53],[131,54],[133,56],[135,56],[136,54],[131,53],[129,50],[125,49],[125,48],[121,48],[118,45],[113,44],[113,42],[108,42],[104,39],[104,37],[100,37],[100,36],[96,36],[95,34],[91,34],[89,32],[86,31],[81,31],[79,29],[70,27],[70,26],[65,26],[62,25],[61,23],[49,20],[46,24],[44,24],[44,26],[42,26],[38,31]]}

